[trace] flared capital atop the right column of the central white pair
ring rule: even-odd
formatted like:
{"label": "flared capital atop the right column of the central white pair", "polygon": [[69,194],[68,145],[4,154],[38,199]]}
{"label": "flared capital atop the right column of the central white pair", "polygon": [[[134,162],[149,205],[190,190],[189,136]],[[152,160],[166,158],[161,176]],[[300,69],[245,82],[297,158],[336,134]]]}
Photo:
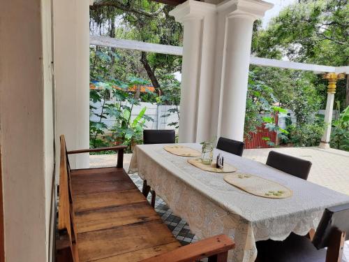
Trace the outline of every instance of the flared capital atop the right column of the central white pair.
{"label": "flared capital atop the right column of the central white pair", "polygon": [[262,18],[273,6],[273,3],[262,0],[225,0],[217,5],[217,10],[226,13],[228,17],[249,17],[254,21]]}

